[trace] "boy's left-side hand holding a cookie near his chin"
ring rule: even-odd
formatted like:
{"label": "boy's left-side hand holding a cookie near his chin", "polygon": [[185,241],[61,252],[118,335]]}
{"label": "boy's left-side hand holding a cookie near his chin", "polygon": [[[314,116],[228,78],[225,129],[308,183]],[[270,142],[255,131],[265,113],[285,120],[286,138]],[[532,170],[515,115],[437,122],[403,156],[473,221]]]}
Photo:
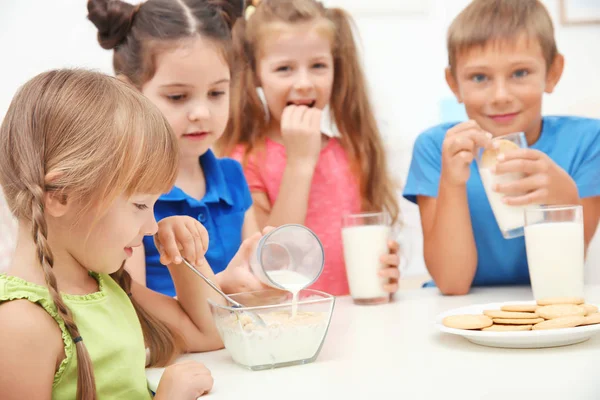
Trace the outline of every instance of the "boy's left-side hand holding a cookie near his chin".
{"label": "boy's left-side hand holding a cookie near his chin", "polygon": [[453,186],[465,185],[477,149],[488,147],[491,138],[492,135],[481,129],[475,121],[463,122],[449,129],[442,144],[441,179]]}

